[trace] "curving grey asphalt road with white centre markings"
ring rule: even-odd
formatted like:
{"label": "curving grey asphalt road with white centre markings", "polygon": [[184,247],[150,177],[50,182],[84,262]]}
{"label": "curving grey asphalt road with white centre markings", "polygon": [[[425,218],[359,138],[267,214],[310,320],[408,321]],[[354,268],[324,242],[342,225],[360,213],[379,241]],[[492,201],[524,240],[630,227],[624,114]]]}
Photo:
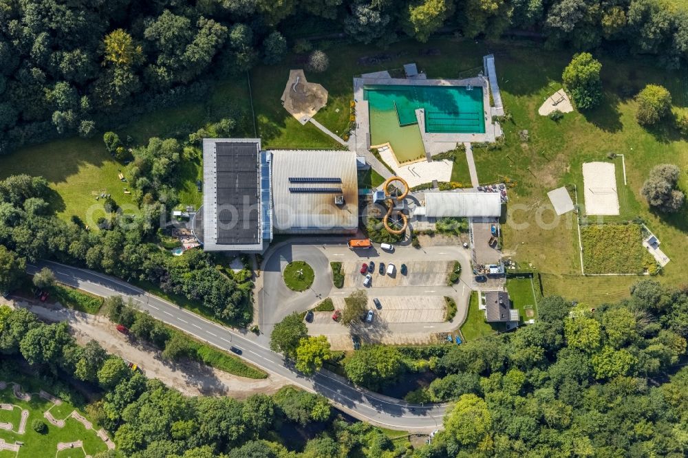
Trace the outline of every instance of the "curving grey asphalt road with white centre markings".
{"label": "curving grey asphalt road with white centre markings", "polygon": [[120,295],[125,300],[130,298],[139,309],[150,312],[151,316],[219,349],[229,351],[231,346],[237,347],[243,351],[241,357],[257,367],[288,378],[294,385],[305,390],[327,397],[336,407],[358,419],[387,428],[423,433],[429,433],[442,425],[442,417],[448,404],[409,404],[356,387],[325,370],[313,376],[305,376],[293,368],[292,362],[261,345],[256,336],[248,331],[235,331],[218,325],[125,281],[91,270],[44,261],[28,265],[27,271],[34,274],[43,267],[50,268],[59,282],[80,290],[103,297]]}

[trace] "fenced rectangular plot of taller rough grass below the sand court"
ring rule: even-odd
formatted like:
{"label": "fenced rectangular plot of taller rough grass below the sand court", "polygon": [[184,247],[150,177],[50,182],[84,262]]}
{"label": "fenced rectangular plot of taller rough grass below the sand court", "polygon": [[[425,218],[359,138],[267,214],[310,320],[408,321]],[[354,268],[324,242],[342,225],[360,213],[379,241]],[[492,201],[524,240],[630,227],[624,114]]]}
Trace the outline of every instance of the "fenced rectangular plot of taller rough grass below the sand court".
{"label": "fenced rectangular plot of taller rough grass below the sand court", "polygon": [[581,227],[586,274],[642,274],[655,260],[643,247],[638,224]]}

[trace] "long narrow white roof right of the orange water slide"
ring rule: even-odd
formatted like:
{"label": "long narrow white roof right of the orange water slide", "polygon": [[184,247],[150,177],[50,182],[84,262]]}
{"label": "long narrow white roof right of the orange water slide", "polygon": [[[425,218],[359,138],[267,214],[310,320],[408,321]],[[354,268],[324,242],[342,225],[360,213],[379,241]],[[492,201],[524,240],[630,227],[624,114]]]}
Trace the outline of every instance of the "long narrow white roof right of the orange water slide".
{"label": "long narrow white roof right of the orange water slide", "polygon": [[425,217],[499,217],[499,193],[425,193]]}

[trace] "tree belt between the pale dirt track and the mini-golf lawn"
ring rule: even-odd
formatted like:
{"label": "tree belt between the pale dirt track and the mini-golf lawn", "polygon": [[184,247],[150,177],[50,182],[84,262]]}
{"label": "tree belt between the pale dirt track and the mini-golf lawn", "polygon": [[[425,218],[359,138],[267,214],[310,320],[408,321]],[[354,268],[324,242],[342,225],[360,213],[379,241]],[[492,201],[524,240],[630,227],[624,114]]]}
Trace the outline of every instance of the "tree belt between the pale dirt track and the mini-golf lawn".
{"label": "tree belt between the pale dirt track and the mini-golf lawn", "polygon": [[[132,371],[98,342],[78,345],[67,323],[46,325],[25,309],[0,307],[0,378],[13,380],[19,360],[54,394],[83,408],[114,437],[116,450],[96,457],[321,458],[402,456],[380,430],[345,422],[327,400],[285,386],[275,395],[184,397],[179,391]],[[10,359],[11,358],[11,359]],[[87,403],[70,383],[99,399]],[[47,385],[46,385],[47,384]],[[310,441],[303,435],[317,435]],[[298,455],[279,444],[290,436]],[[302,444],[305,443],[305,444]],[[341,455],[340,455],[341,453]]]}

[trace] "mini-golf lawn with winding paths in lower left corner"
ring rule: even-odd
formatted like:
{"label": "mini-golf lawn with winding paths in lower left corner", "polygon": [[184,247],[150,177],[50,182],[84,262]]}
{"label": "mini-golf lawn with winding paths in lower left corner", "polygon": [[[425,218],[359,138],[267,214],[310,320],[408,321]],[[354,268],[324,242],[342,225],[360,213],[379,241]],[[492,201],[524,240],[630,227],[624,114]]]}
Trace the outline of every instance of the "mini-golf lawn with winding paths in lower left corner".
{"label": "mini-golf lawn with winding paths in lower left corner", "polygon": [[[38,379],[28,379],[23,375],[16,373],[13,378],[6,378],[7,375],[3,376],[3,380],[7,382],[15,381],[19,382],[22,387],[22,391],[37,392],[40,389],[46,389],[50,392],[47,386],[42,386]],[[30,383],[28,383],[30,381]],[[53,393],[54,394],[54,393]],[[16,441],[22,441],[23,446],[19,449],[19,453],[11,456],[21,457],[47,457],[55,456],[57,452],[58,442],[72,442],[76,440],[83,441],[83,448],[88,455],[96,455],[98,452],[103,452],[107,450],[105,442],[100,440],[96,436],[96,430],[100,426],[94,425],[94,430],[87,430],[83,424],[80,424],[76,419],[68,418],[69,414],[75,410],[75,407],[69,402],[63,400],[61,406],[54,406],[50,412],[57,419],[65,419],[65,427],[58,428],[57,426],[52,426],[44,418],[43,413],[47,411],[48,408],[52,406],[52,402],[44,400],[39,395],[32,395],[32,399],[29,402],[25,402],[14,397],[12,393],[12,386],[8,385],[6,389],[0,391],[0,402],[7,404],[14,404],[15,406],[20,406],[22,409],[29,411],[29,417],[26,424],[26,432],[22,435],[13,433],[12,431],[0,430],[0,439],[5,439],[10,444],[14,444]],[[78,409],[77,409],[78,410]],[[21,411],[18,408],[14,408],[13,411],[0,411],[0,422],[11,422],[14,426],[14,430],[19,427],[19,417],[21,416]],[[82,411],[79,411],[81,415],[85,415]],[[34,419],[40,419],[47,424],[48,431],[45,434],[36,433],[31,428],[31,422]],[[64,452],[59,454],[59,457],[83,457],[85,456],[83,451],[80,449],[70,450],[71,454],[65,454]],[[6,455],[10,456],[10,455]]]}

